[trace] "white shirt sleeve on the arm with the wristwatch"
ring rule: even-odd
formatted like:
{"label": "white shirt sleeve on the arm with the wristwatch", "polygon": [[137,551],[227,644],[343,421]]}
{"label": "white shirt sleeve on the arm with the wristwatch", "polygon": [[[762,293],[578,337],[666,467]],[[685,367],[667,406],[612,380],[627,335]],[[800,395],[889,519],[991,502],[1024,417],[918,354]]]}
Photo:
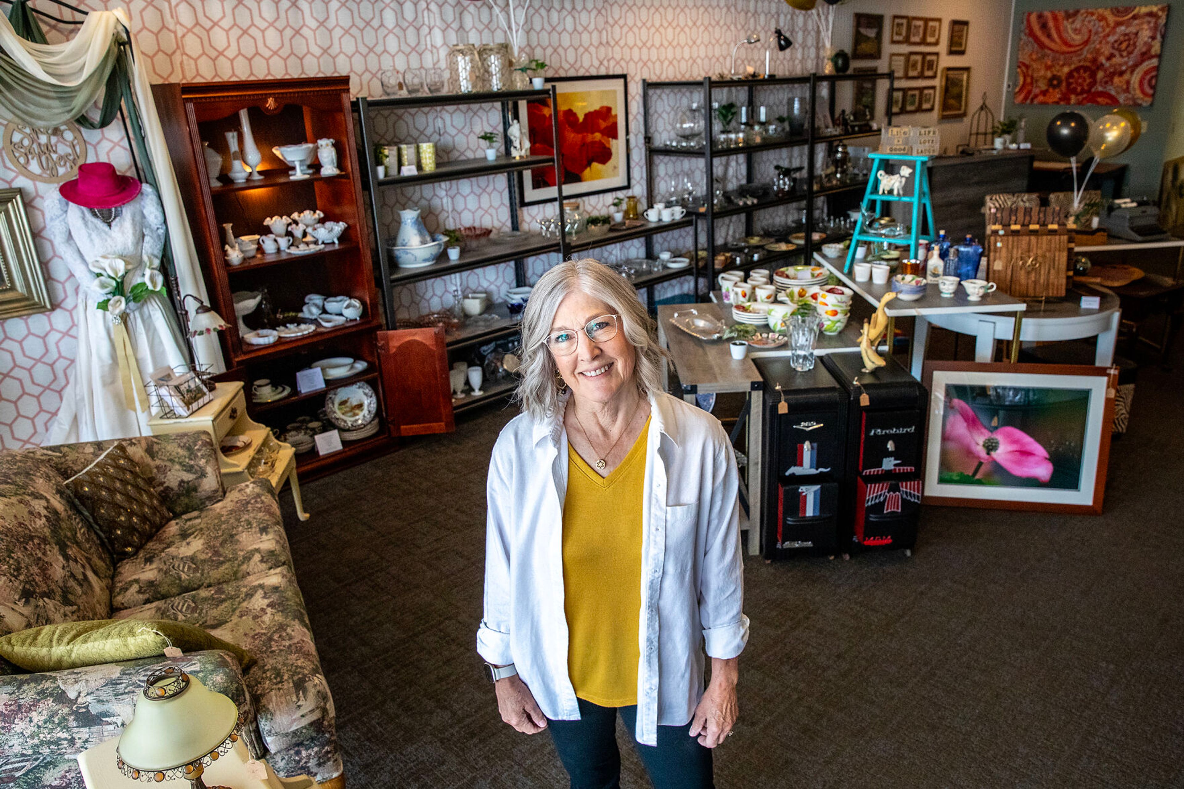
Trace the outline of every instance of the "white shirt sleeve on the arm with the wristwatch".
{"label": "white shirt sleeve on the arm with the wristwatch", "polygon": [[484,614],[477,628],[477,654],[495,666],[514,662],[510,652],[510,541],[507,533],[513,498],[502,455],[502,447],[495,445],[485,484]]}

